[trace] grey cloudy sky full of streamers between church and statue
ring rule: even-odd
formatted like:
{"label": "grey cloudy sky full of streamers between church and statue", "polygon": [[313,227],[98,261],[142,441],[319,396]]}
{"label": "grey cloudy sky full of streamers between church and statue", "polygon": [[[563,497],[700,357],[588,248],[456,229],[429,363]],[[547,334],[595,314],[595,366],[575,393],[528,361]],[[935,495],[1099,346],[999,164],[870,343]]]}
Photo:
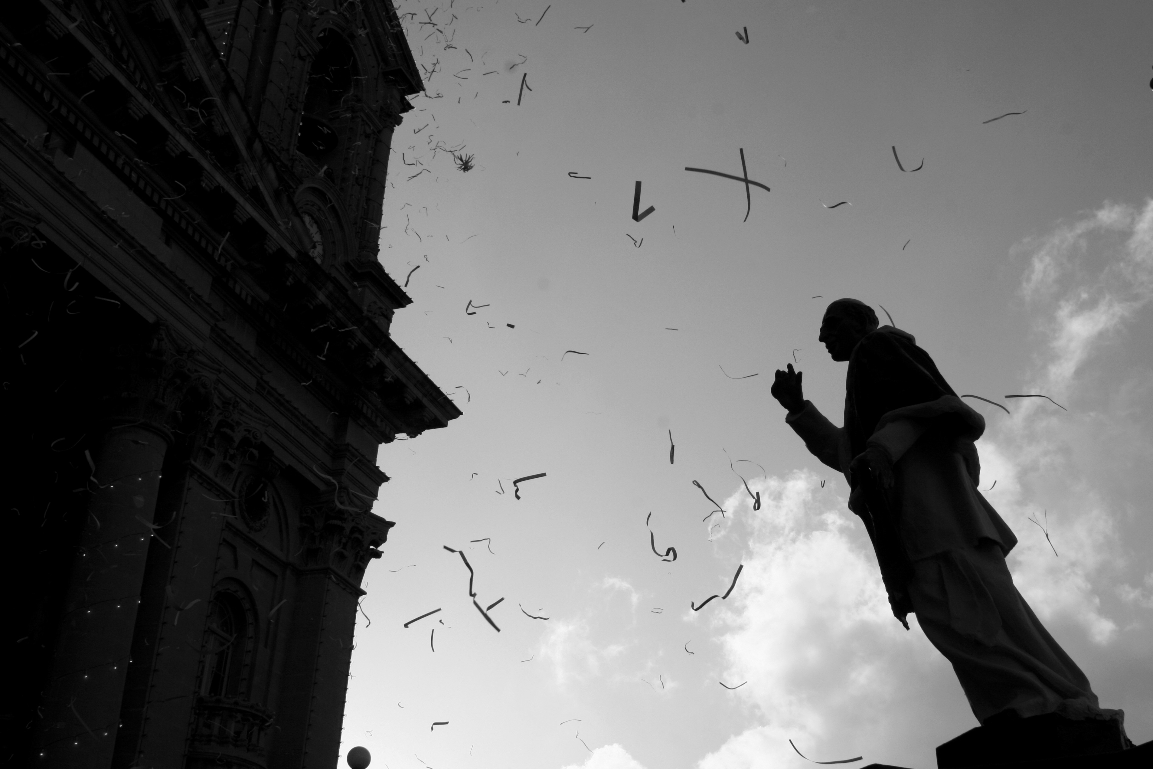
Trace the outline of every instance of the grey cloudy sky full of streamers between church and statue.
{"label": "grey cloudy sky full of streamers between church and statue", "polygon": [[[875,565],[845,484],[768,392],[797,348],[839,421],[844,367],[816,332],[841,296],[887,308],[958,392],[1043,386],[1069,408],[978,405],[982,489],[998,481],[1022,540],[1023,594],[1153,738],[1148,3],[572,1],[535,24],[548,5],[398,3],[443,98],[414,98],[393,138],[382,262],[400,282],[421,265],[393,334],[465,415],[382,448],[376,510],[398,526],[366,578],[344,751],[560,769],[590,756],[579,730],[590,769],[805,764],[789,737],[817,760],[932,766],[975,721],[919,628],[861,587]],[[422,39],[437,7],[454,48]],[[1024,114],[982,122],[1007,112]],[[747,223],[741,183],[684,171],[740,175],[739,148],[771,188]],[[734,465],[760,513],[730,458],[763,466]],[[510,480],[542,472],[515,500]],[[729,510],[711,542],[693,480]],[[1027,521],[1041,510],[1060,557]],[[649,512],[676,563],[649,549]],[[473,548],[500,633],[442,545]],[[728,602],[689,610],[740,563]],[[861,715],[877,702],[892,717]]]}

